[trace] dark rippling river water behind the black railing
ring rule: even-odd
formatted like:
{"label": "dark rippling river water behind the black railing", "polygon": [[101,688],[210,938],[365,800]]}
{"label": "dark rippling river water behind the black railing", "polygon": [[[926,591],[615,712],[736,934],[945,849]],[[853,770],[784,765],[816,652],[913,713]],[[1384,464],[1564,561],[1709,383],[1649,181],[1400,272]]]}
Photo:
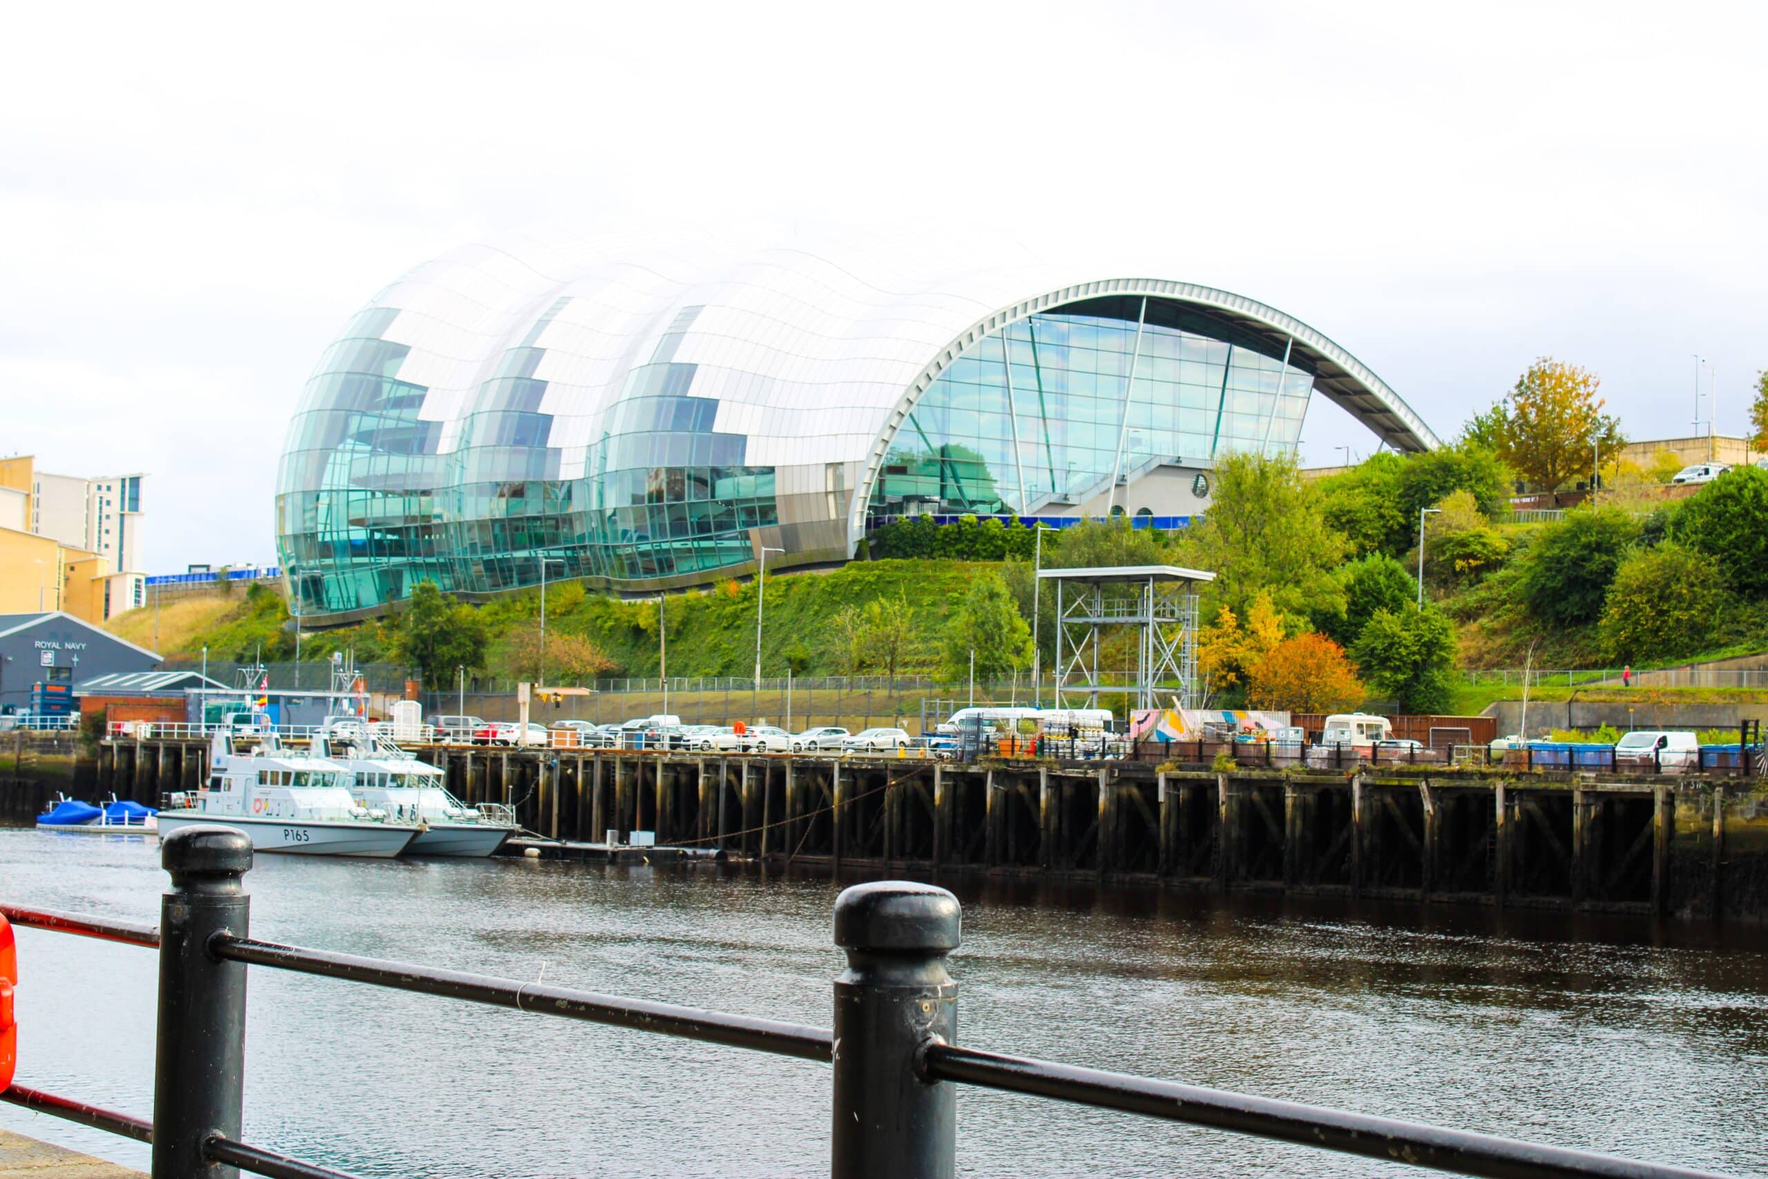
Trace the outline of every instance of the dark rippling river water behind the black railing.
{"label": "dark rippling river water behind the black railing", "polygon": [[[1768,942],[1483,909],[948,880],[960,1041],[1768,1174]],[[260,856],[253,933],[827,1025],[840,886]],[[157,919],[157,847],[0,831],[0,898]],[[21,930],[21,1084],[147,1115],[152,951]],[[362,1175],[820,1175],[827,1066],[253,969],[246,1138]],[[960,1089],[974,1175],[1400,1175]],[[145,1168],[145,1147],[0,1107]]]}

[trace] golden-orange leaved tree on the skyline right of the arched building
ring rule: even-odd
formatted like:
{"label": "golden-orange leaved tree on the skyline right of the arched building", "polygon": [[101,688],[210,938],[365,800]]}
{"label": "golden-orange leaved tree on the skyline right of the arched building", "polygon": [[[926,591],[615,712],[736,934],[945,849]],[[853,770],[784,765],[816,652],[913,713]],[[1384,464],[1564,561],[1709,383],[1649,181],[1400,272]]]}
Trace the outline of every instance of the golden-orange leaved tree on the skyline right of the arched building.
{"label": "golden-orange leaved tree on the skyline right of the arched building", "polygon": [[1542,357],[1503,401],[1475,419],[1475,431],[1499,458],[1542,491],[1589,479],[1597,451],[1618,454],[1627,438],[1597,396],[1600,378],[1574,364]]}

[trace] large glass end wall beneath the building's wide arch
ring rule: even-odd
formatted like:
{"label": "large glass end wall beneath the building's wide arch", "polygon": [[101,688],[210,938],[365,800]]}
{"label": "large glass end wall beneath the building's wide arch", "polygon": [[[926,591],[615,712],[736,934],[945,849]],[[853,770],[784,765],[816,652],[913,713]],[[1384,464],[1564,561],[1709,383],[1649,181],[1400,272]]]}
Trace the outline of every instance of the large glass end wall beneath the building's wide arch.
{"label": "large glass end wall beneath the building's wide arch", "polygon": [[896,431],[870,509],[1029,516],[1160,465],[1280,454],[1301,437],[1312,391],[1282,355],[1186,331],[1156,300],[1033,315],[978,341],[928,387]]}

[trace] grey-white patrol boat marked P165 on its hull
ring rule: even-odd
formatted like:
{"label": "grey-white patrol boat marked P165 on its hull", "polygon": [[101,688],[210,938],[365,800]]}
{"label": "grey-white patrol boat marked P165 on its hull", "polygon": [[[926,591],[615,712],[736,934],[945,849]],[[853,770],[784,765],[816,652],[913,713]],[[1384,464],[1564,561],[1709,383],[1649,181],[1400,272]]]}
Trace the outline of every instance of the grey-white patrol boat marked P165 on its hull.
{"label": "grey-white patrol boat marked P165 on its hull", "polygon": [[[258,744],[242,751],[248,735]],[[269,725],[255,734],[223,728],[209,746],[209,785],[173,794],[159,811],[159,833],[221,824],[244,831],[253,850],[297,856],[392,859],[410,847],[417,824],[359,804],[348,781],[350,771],[336,762],[283,749]]]}

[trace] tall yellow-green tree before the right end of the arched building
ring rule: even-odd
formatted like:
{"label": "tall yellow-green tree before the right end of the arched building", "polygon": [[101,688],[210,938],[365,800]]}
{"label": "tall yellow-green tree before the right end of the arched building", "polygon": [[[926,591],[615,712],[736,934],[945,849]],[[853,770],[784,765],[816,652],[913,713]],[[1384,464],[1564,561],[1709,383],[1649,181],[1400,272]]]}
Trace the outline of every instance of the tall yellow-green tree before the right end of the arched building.
{"label": "tall yellow-green tree before the right end of the arched building", "polygon": [[1216,463],[1215,498],[1179,539],[1183,564],[1216,574],[1206,617],[1220,606],[1248,617],[1261,592],[1292,619],[1337,613],[1344,589],[1333,569],[1349,550],[1292,458],[1250,453]]}

